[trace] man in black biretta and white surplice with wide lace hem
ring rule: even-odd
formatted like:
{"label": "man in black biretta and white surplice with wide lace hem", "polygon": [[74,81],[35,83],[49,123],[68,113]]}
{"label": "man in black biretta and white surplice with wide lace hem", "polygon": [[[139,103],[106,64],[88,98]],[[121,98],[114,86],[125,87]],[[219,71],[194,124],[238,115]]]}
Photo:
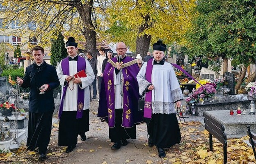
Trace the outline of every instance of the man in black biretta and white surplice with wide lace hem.
{"label": "man in black biretta and white surplice with wide lace hem", "polygon": [[164,148],[181,141],[174,103],[180,107],[183,94],[172,65],[163,60],[165,49],[162,41],[154,43],[154,58],[145,62],[137,75],[139,94],[145,96],[149,146],[157,146],[159,157],[165,157]]}

